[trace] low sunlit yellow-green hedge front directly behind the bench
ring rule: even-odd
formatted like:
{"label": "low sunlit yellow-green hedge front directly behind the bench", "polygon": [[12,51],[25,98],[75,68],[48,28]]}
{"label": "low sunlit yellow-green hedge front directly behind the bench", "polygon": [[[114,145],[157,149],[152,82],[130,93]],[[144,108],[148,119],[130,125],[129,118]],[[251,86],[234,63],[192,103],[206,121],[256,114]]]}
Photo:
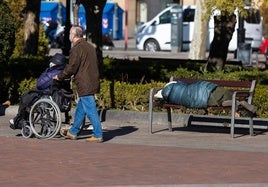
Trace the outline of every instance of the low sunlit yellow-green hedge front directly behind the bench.
{"label": "low sunlit yellow-green hedge front directly behind the bench", "polygon": [[[36,79],[25,79],[20,83],[19,93],[22,94],[36,84]],[[96,95],[98,107],[101,109],[148,111],[149,90],[152,87],[163,87],[165,82],[147,84],[131,84],[120,81],[101,80],[100,93]],[[258,85],[254,96],[254,104],[258,107],[258,117],[268,117],[268,90]],[[186,110],[202,114],[202,110]],[[213,111],[211,111],[213,112]]]}

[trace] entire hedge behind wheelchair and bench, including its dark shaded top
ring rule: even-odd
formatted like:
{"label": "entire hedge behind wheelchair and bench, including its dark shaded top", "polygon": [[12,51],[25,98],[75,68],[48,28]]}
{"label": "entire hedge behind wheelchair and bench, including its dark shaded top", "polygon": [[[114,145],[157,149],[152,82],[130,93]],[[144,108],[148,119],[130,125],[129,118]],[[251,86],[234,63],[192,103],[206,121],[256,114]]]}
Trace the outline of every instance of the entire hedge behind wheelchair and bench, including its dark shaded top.
{"label": "entire hedge behind wheelchair and bench, including its dark shaded top", "polygon": [[[37,77],[48,65],[48,58],[35,57],[29,60],[21,57],[11,61],[9,70],[13,86],[10,86],[10,95],[13,98],[13,104],[18,103],[19,96],[23,92],[35,86]],[[253,102],[258,107],[257,115],[258,117],[268,117],[268,70],[230,66],[226,67],[224,71],[208,73],[202,70],[203,64],[191,65],[191,63],[185,62],[184,65],[178,65],[177,62],[166,63],[165,61],[157,63],[158,66],[155,65],[156,62],[142,64],[140,61],[104,59],[104,75],[101,79],[100,93],[97,95],[98,107],[148,111],[150,88],[164,86],[172,75],[180,78],[199,79],[256,79],[258,85]]]}

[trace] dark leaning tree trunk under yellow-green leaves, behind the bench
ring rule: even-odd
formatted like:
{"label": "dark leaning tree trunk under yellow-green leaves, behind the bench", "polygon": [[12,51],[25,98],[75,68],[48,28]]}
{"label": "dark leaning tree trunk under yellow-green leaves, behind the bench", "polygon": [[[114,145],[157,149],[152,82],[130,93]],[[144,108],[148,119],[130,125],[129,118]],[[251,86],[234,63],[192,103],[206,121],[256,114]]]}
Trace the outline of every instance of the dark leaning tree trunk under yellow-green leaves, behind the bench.
{"label": "dark leaning tree trunk under yellow-green leaves, behind the bench", "polygon": [[236,15],[214,16],[214,38],[210,44],[207,71],[223,70],[228,46],[236,24]]}

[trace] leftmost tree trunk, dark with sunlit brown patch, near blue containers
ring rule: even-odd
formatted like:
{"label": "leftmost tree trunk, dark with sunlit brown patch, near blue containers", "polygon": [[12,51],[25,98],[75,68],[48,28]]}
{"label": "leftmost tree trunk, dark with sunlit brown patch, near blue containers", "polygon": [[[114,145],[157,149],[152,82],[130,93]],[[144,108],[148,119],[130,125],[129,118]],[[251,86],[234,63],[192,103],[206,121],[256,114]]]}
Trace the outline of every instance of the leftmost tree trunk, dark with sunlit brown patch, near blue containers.
{"label": "leftmost tree trunk, dark with sunlit brown patch, near blue containers", "polygon": [[26,1],[23,53],[36,55],[38,52],[40,0]]}

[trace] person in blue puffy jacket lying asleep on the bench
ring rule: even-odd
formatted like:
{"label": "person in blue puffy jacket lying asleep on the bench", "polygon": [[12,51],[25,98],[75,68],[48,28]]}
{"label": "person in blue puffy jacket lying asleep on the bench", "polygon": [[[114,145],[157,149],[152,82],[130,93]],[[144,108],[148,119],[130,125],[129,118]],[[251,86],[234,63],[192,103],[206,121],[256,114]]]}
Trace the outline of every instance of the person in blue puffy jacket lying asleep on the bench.
{"label": "person in blue puffy jacket lying asleep on the bench", "polygon": [[[187,108],[207,108],[209,106],[232,106],[232,93],[208,81],[197,81],[191,84],[182,81],[171,81],[155,95],[168,103],[186,106]],[[257,107],[246,101],[237,101],[237,105],[256,113]]]}

